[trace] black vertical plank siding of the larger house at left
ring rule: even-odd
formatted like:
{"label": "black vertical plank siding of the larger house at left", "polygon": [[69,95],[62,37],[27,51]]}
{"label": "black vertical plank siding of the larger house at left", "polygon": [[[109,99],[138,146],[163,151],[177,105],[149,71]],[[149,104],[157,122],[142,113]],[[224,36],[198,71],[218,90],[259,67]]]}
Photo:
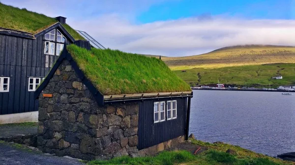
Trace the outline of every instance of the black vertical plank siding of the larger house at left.
{"label": "black vertical plank siding of the larger house at left", "polygon": [[[28,88],[29,77],[42,80],[51,69],[45,68],[44,34],[40,33],[36,39],[0,34],[0,77],[10,77],[9,92],[0,92],[0,115],[38,110],[34,92]],[[71,40],[66,38],[70,44]],[[58,56],[49,56],[52,63],[58,59]]]}

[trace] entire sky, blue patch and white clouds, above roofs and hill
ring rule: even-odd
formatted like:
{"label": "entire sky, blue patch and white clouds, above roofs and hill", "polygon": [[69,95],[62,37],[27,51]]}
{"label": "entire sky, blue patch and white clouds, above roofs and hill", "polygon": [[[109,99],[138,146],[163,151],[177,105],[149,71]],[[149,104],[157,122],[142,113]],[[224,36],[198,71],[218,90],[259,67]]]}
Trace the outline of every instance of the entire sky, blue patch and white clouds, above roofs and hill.
{"label": "entire sky, blue patch and white clouds, above roofs and hill", "polygon": [[104,47],[188,56],[236,45],[295,46],[295,0],[0,0],[66,17]]}

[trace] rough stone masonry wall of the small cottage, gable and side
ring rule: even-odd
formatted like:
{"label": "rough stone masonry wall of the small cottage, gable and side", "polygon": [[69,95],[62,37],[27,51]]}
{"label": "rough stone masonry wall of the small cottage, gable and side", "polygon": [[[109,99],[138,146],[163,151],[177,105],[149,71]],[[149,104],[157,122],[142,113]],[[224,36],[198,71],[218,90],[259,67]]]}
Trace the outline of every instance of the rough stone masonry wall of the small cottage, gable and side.
{"label": "rough stone masonry wall of the small cottage, gable and side", "polygon": [[39,96],[38,148],[83,160],[139,156],[138,111],[138,103],[99,107],[64,60]]}

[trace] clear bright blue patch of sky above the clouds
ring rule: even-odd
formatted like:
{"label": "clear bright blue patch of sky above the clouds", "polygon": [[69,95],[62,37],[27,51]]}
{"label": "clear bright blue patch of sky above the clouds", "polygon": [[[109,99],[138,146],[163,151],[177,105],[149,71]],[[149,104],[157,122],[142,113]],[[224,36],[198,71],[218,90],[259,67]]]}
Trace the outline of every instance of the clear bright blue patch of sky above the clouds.
{"label": "clear bright blue patch of sky above the clouds", "polygon": [[138,23],[224,15],[246,19],[294,19],[294,0],[172,0],[150,6]]}

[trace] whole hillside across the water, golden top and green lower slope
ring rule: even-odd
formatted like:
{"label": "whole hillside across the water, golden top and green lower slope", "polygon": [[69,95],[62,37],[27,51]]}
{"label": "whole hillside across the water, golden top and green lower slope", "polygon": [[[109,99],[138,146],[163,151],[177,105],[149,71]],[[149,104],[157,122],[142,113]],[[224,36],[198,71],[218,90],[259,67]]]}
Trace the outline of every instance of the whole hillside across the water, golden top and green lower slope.
{"label": "whole hillside across the water, golden top and green lower slope", "polygon": [[[217,84],[218,80],[236,86],[295,84],[295,47],[223,47],[206,54],[163,57],[162,60],[191,85]],[[271,79],[276,75],[282,75],[283,79]]]}

